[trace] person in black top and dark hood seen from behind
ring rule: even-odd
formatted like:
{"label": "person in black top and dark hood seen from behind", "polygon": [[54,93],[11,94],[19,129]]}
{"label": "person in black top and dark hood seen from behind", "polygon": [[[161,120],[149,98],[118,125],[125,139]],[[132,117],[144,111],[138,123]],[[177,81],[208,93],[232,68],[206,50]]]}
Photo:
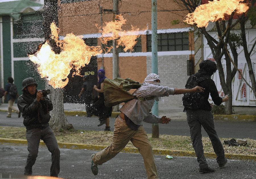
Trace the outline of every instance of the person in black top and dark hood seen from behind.
{"label": "person in black top and dark hood seen from behind", "polygon": [[214,127],[211,105],[208,101],[209,94],[215,105],[220,105],[221,103],[228,101],[229,97],[228,95],[223,99],[219,97],[216,85],[210,78],[218,69],[216,63],[210,60],[204,60],[199,64],[199,68],[200,69],[196,74],[193,74],[188,78],[185,88],[191,89],[198,85],[205,88],[205,90],[203,93],[185,93],[182,102],[184,106],[183,111],[187,114],[187,123],[189,125],[192,145],[197,155],[199,171],[202,173],[209,173],[214,172],[215,170],[208,166],[204,156],[201,126],[203,126],[212,142],[212,147],[217,155],[216,161],[219,167],[221,168],[227,163],[222,143]]}

